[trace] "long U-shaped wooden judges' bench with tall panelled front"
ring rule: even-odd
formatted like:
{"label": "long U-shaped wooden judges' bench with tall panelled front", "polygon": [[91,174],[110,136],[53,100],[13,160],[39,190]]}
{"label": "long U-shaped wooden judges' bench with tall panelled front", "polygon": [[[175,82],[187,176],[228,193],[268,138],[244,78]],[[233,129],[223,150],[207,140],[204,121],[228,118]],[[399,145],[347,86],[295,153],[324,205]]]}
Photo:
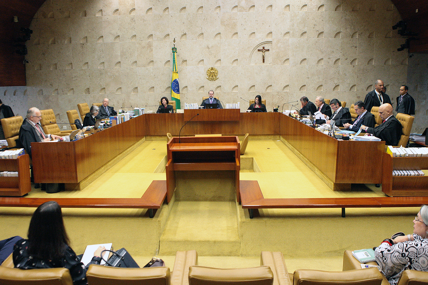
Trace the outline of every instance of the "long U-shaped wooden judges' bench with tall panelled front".
{"label": "long U-shaped wooden judges' bench with tall panelled front", "polygon": [[[216,119],[219,112],[222,112],[222,120]],[[241,113],[235,109],[185,110],[184,114],[145,114],[79,141],[33,143],[33,157],[36,158],[33,159],[35,182],[80,183],[145,136],[164,136],[167,132],[178,135],[181,126],[196,115],[195,113],[199,113],[200,117],[196,116],[184,126],[182,136],[212,133],[279,135],[285,144],[333,189],[349,189],[351,183],[382,183],[382,167],[379,165],[383,164],[384,142],[337,141],[282,113]],[[359,158],[358,162],[353,159],[354,156]],[[243,194],[240,193],[241,198]],[[295,202],[293,205],[290,201],[283,203],[282,208],[303,205],[301,201]],[[305,203],[313,207],[332,204],[321,202]],[[336,204],[360,204],[366,207],[386,205],[383,202],[379,204],[359,200]],[[257,209],[254,207],[257,205],[251,206]],[[278,208],[278,205],[270,206]]]}

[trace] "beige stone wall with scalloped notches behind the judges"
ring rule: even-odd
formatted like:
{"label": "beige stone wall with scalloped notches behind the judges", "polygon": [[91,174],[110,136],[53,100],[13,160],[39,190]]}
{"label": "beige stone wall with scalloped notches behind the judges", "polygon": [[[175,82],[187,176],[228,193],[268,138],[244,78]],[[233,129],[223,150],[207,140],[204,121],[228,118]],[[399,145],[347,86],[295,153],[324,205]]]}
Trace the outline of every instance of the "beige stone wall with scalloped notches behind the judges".
{"label": "beige stone wall with scalloped notches behind the judges", "polygon": [[182,105],[212,89],[243,110],[240,98],[257,94],[270,111],[318,95],[350,107],[375,79],[390,94],[406,82],[399,20],[390,0],[47,0],[30,26],[27,86],[0,92],[15,113],[52,108],[62,122],[104,97],[115,109],[158,105],[170,97],[175,38]]}

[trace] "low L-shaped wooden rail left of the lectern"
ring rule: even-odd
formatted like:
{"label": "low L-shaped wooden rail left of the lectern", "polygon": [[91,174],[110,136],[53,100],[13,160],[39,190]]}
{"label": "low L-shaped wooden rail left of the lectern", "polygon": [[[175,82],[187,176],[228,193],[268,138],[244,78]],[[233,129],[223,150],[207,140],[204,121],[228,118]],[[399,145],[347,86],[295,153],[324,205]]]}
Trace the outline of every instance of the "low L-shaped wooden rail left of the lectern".
{"label": "low L-shaped wooden rail left of the lectern", "polygon": [[150,217],[155,216],[153,209],[159,209],[166,198],[166,181],[153,180],[141,198],[30,198],[1,197],[0,207],[39,207],[48,201],[56,201],[62,208],[128,208],[149,209]]}

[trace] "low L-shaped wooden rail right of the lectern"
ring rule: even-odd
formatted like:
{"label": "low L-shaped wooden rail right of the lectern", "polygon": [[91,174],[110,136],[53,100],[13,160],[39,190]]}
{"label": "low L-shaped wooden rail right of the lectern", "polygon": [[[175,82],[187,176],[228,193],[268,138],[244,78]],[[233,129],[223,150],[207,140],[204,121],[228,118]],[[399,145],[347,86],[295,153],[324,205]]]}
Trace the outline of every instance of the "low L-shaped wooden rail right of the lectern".
{"label": "low L-shaped wooden rail right of the lectern", "polygon": [[249,210],[250,219],[254,209],[342,208],[345,217],[345,208],[419,207],[428,203],[428,197],[265,199],[256,180],[241,180],[239,188],[242,208]]}

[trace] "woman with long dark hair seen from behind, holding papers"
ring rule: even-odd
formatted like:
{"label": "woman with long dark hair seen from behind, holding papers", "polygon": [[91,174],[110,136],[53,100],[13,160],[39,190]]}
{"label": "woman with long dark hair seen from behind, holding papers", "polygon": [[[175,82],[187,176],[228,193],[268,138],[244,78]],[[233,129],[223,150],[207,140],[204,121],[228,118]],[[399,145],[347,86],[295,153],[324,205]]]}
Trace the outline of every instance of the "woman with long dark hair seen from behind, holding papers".
{"label": "woman with long dark hair seen from behind, holding papers", "polygon": [[105,247],[95,250],[85,268],[69,244],[61,207],[54,201],[43,203],[31,217],[28,239],[16,242],[13,263],[20,269],[65,267],[70,270],[74,285],[87,284],[86,269],[89,264],[100,264]]}

